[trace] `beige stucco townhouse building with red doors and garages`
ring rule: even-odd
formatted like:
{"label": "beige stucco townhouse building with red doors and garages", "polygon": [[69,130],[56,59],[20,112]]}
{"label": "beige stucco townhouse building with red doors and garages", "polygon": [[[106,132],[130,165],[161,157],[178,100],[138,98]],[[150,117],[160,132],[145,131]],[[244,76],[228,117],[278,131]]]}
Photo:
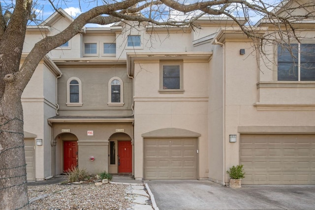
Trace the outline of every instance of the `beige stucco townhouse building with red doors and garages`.
{"label": "beige stucco townhouse building with red doors and garages", "polygon": [[[61,12],[28,28],[25,54],[71,23]],[[315,184],[314,20],[293,73],[287,51],[259,54],[232,20],[196,23],[83,28],[47,54],[22,96],[28,180],[80,167],[225,184],[243,164],[244,184]]]}

